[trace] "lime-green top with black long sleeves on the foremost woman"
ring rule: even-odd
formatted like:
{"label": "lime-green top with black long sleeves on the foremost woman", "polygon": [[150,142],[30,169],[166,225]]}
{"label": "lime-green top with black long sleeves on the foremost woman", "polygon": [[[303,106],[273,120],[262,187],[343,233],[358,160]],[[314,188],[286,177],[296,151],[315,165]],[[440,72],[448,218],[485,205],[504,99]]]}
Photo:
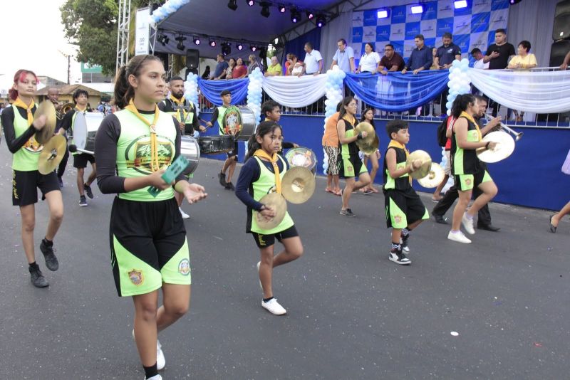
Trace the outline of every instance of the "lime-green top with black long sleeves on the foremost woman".
{"label": "lime-green top with black long sleeves on the foremost woman", "polygon": [[[149,122],[155,112],[140,111]],[[157,125],[158,159],[165,167],[180,155],[180,128],[178,121],[160,111]],[[172,187],[154,197],[148,187],[125,191],[125,178],[147,176],[150,170],[150,129],[129,110],[120,110],[103,119],[95,137],[97,184],[103,194],[118,194],[129,201],[162,201],[174,196]],[[185,179],[184,174],[176,181]]]}

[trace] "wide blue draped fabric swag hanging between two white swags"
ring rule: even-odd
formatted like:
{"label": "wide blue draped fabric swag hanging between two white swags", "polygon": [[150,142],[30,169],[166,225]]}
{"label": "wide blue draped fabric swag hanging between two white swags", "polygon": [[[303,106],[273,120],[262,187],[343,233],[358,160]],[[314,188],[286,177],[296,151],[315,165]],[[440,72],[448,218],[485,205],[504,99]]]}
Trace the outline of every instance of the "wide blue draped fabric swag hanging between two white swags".
{"label": "wide blue draped fabric swag hanging between two white swags", "polygon": [[402,112],[424,105],[447,87],[448,70],[424,70],[388,75],[347,73],[344,83],[361,100],[378,110]]}

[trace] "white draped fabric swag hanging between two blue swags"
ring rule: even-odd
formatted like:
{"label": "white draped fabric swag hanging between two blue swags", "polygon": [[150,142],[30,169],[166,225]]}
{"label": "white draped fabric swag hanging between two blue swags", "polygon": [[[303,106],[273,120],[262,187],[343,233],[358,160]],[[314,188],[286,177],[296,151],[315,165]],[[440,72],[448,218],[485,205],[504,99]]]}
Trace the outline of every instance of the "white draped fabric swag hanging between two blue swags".
{"label": "white draped fabric swag hanging between two blue swags", "polygon": [[285,107],[305,107],[311,105],[325,95],[326,74],[297,76],[266,77],[263,89],[271,97]]}

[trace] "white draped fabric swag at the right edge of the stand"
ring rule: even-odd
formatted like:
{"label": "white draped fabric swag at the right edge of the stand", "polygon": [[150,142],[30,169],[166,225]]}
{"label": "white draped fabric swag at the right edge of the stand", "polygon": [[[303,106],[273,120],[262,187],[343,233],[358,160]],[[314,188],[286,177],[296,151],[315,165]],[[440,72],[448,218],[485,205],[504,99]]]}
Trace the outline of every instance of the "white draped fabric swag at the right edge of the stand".
{"label": "white draped fabric swag at the right edge of the stand", "polygon": [[559,113],[570,110],[570,70],[479,70],[470,68],[471,83],[512,110]]}

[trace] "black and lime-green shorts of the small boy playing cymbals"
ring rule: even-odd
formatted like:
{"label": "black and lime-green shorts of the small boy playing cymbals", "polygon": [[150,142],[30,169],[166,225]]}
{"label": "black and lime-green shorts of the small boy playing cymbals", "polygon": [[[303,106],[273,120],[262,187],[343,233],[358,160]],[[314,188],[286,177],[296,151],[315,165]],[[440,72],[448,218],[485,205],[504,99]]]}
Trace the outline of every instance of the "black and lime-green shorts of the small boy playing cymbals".
{"label": "black and lime-green shorts of the small boy playing cymbals", "polygon": [[412,188],[385,190],[384,204],[388,228],[405,228],[415,221],[430,218],[420,196]]}

